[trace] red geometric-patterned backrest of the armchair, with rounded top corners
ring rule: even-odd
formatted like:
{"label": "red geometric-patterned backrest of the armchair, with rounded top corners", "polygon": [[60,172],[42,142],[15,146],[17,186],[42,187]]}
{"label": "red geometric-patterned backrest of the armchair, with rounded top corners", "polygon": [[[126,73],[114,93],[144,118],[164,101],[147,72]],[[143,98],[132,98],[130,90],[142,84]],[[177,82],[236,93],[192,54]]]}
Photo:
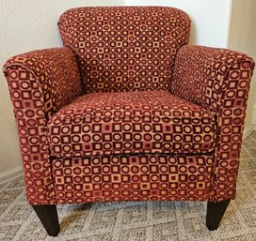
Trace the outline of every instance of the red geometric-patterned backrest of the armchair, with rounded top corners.
{"label": "red geometric-patterned backrest of the armchair, with rounded top corners", "polygon": [[177,8],[72,8],[58,27],[76,55],[85,93],[168,90],[190,20]]}

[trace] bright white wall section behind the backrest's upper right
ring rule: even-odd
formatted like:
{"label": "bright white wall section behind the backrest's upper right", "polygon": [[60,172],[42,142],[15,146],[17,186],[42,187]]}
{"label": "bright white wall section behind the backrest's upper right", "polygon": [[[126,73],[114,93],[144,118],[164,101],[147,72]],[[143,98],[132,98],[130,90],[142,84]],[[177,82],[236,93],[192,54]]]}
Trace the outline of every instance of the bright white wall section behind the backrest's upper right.
{"label": "bright white wall section behind the backrest's upper right", "polygon": [[192,20],[190,44],[227,47],[231,0],[125,0],[125,5],[183,9]]}

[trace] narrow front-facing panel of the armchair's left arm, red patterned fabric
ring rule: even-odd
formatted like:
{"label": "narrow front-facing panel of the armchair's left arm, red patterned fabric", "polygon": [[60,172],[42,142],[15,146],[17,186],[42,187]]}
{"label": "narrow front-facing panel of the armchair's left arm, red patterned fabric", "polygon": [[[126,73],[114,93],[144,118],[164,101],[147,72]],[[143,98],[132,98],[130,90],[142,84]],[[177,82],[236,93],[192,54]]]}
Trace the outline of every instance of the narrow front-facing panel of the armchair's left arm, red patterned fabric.
{"label": "narrow front-facing panel of the armchair's left arm, red patterned fabric", "polygon": [[27,200],[31,204],[53,204],[56,195],[40,84],[22,67],[6,68],[5,73],[19,134]]}

